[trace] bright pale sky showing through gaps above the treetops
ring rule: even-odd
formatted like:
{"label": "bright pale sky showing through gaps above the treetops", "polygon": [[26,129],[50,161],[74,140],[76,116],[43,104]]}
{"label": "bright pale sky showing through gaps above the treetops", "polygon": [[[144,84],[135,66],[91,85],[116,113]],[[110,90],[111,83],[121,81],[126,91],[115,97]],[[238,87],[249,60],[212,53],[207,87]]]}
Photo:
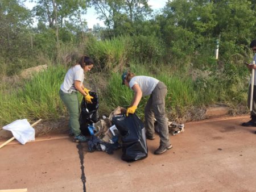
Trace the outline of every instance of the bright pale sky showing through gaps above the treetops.
{"label": "bright pale sky showing through gaps above the treetops", "polygon": [[[159,9],[162,9],[167,2],[168,0],[148,0],[148,5],[150,5],[154,11],[157,11]],[[26,1],[24,5],[28,9],[32,9],[36,4]],[[86,19],[88,28],[93,28],[93,25],[97,23],[100,24],[100,26],[102,27],[104,26],[104,23],[101,20],[97,19],[97,17],[98,15],[96,14],[96,11],[94,10],[94,8],[90,7],[87,10],[87,13],[84,17]]]}

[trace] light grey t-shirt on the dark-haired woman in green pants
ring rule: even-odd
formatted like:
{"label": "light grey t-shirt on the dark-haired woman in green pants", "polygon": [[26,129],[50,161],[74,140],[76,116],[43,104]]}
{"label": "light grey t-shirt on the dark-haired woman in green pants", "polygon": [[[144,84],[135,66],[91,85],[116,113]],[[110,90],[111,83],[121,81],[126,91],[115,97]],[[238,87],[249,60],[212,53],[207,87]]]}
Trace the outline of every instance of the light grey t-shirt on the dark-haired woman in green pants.
{"label": "light grey t-shirt on the dark-haired woman in green pants", "polygon": [[77,91],[75,81],[81,81],[81,86],[82,82],[84,82],[84,70],[82,69],[81,65],[75,65],[68,69],[60,89],[64,93],[72,93],[72,91]]}

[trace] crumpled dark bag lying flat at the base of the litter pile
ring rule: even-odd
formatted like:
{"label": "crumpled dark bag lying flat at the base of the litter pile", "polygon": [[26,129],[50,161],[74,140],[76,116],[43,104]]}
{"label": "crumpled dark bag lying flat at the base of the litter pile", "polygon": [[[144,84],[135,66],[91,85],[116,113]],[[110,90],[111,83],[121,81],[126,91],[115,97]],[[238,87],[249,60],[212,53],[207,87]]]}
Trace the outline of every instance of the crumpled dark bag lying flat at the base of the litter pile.
{"label": "crumpled dark bag lying flat at the base of the litter pile", "polygon": [[[90,137],[89,141],[87,141],[88,144],[88,151],[89,152],[94,152],[94,151],[105,151],[108,154],[112,155],[114,150],[120,149],[121,145],[116,142],[116,143],[106,143],[105,141],[100,140],[96,136]],[[101,145],[104,145],[103,149]]]}

